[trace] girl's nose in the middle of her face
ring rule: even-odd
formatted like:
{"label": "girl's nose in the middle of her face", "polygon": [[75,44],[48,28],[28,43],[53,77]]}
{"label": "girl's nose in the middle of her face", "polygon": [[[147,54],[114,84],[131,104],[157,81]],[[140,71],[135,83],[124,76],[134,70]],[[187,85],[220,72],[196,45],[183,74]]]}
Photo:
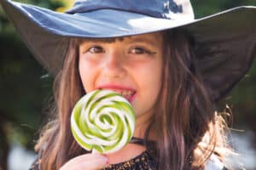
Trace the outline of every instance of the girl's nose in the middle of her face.
{"label": "girl's nose in the middle of her face", "polygon": [[108,78],[121,78],[125,76],[125,59],[124,54],[118,50],[113,50],[106,54],[103,75]]}

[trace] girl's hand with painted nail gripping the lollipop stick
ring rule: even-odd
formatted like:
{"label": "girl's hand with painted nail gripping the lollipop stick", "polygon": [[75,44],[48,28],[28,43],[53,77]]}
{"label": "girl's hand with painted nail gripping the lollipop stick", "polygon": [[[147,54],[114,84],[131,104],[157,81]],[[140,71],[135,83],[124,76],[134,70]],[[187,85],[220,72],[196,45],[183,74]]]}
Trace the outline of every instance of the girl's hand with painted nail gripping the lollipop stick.
{"label": "girl's hand with painted nail gripping the lollipop stick", "polygon": [[84,154],[67,161],[60,170],[96,170],[108,167],[108,157],[101,154]]}

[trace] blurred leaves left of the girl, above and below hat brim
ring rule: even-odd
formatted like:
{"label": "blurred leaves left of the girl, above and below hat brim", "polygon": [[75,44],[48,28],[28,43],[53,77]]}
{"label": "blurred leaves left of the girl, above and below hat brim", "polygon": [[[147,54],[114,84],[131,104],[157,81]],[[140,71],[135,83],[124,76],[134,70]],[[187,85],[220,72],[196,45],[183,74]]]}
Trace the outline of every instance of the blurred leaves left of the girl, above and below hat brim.
{"label": "blurred leaves left of the girl, above and below hat brim", "polygon": [[[72,0],[19,2],[53,10],[65,10],[73,3]],[[9,142],[19,142],[30,148],[34,145],[45,105],[52,95],[53,77],[45,77],[46,74],[0,8],[0,119]],[[1,133],[1,138],[4,135]]]}

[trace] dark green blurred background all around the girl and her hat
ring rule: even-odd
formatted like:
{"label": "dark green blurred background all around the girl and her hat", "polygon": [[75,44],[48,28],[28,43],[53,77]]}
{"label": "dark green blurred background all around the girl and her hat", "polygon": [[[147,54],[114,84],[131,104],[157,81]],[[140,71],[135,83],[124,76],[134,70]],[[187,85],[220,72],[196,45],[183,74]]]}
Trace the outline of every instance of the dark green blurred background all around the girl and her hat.
{"label": "dark green blurred background all around the girl and her hat", "polygon": [[[73,0],[20,0],[56,11],[65,11]],[[255,5],[256,0],[193,0],[195,17],[200,18],[239,5]],[[246,19],[245,19],[246,20]],[[256,21],[256,16],[255,16]],[[256,31],[256,28],[255,28]],[[256,40],[255,40],[256,41]],[[52,100],[49,77],[32,57],[14,27],[0,8],[0,170],[8,169],[8,157],[14,144],[33,150],[38,129],[47,122],[48,105]],[[223,105],[233,111],[231,127],[239,135],[249,132],[249,145],[256,149],[256,64],[247,73]],[[20,158],[22,159],[22,158]],[[254,167],[249,167],[254,169]],[[256,169],[256,168],[255,168]]]}

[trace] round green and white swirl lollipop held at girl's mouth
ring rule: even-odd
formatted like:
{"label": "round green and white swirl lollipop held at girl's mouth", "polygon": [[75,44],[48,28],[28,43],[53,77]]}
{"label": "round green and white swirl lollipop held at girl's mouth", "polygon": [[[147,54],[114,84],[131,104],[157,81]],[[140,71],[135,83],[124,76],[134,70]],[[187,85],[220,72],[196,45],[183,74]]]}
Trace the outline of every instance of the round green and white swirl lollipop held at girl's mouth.
{"label": "round green and white swirl lollipop held at girl's mouth", "polygon": [[96,90],[84,95],[74,106],[71,130],[85,150],[112,153],[131,140],[135,122],[125,98],[109,90]]}

